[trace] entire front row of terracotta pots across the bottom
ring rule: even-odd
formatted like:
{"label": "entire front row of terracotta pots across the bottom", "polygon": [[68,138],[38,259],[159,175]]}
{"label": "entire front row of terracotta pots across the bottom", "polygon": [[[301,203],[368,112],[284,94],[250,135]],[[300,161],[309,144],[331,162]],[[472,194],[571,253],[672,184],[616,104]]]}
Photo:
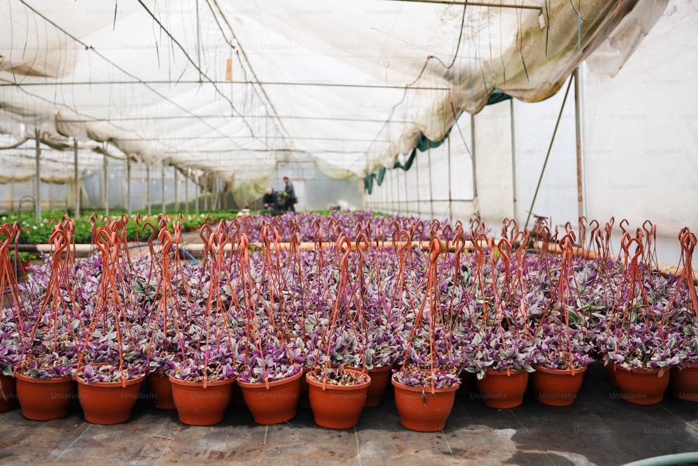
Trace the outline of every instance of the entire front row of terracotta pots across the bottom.
{"label": "entire front row of terracotta pots across the bottom", "polygon": [[[245,384],[235,379],[209,382],[204,388],[201,382],[188,382],[167,377],[162,373],[148,374],[149,392],[154,405],[162,409],[177,409],[182,423],[211,425],[223,421],[231,400],[246,405],[256,422],[281,423],[297,413],[297,407],[310,407],[315,423],[327,428],[350,428],[359,421],[364,407],[380,403],[390,379],[390,367],[371,371],[370,379],[360,386],[327,386],[298,372],[283,381],[265,384]],[[670,385],[671,393],[681,400],[698,401],[698,365],[678,371],[615,369],[607,365],[609,384],[618,384],[621,398],[639,405],[660,402]],[[555,406],[574,402],[584,377],[581,370],[554,371],[536,367],[530,374],[535,398]],[[470,391],[468,382],[474,377],[463,377],[463,389]],[[528,387],[526,371],[489,371],[487,377],[475,380],[482,402],[498,409],[521,405]],[[85,384],[79,377],[60,379],[34,379],[17,374],[0,377],[0,411],[13,409],[17,401],[22,414],[30,419],[43,421],[67,416],[70,404],[76,398],[84,411],[86,421],[99,424],[121,423],[131,417],[140,397],[143,377],[129,380],[126,386],[112,384]],[[671,381],[671,384],[669,384]],[[453,407],[458,386],[436,389],[409,387],[392,379],[395,402],[401,423],[408,429],[436,431],[443,429]],[[637,386],[644,384],[644,386]],[[16,388],[15,388],[16,386]],[[235,392],[238,387],[239,393]],[[16,390],[16,395],[15,395]],[[236,394],[239,398],[236,400]]]}

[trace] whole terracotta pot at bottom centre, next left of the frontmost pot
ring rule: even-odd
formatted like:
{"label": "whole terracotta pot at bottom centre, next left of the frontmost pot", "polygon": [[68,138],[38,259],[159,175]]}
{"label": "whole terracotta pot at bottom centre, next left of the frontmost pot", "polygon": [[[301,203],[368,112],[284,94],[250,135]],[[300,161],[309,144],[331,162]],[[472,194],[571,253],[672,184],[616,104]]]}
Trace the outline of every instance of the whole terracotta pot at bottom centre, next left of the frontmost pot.
{"label": "whole terracotta pot at bottom centre, next left of the frontmost pot", "polygon": [[[345,367],[344,370],[359,372]],[[306,374],[310,407],[315,423],[330,429],[348,429],[359,423],[359,416],[366,404],[366,393],[371,378],[359,385],[330,385],[322,389],[322,382],[316,382]]]}

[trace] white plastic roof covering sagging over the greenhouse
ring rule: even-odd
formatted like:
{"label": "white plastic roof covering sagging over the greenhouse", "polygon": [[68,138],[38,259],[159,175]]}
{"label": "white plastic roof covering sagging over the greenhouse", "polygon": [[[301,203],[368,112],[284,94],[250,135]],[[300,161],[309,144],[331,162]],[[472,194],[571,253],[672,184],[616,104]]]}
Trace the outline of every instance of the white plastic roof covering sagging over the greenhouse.
{"label": "white plastic roof covering sagging over the greenhouse", "polygon": [[[422,135],[440,140],[494,89],[551,96],[637,0],[488,3],[1,0],[0,147],[35,129],[85,149],[108,141],[241,198],[259,196],[277,161],[362,177]],[[49,158],[61,156],[72,163]],[[52,177],[72,177],[70,163]]]}

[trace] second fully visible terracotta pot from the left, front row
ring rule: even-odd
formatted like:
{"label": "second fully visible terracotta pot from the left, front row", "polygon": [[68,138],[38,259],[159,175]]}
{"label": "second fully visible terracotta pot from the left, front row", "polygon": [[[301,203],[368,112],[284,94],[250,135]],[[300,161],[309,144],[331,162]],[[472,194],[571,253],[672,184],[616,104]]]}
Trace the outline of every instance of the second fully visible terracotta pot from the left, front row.
{"label": "second fully visible terracotta pot from the left, front row", "polygon": [[140,397],[141,382],[145,375],[121,382],[87,382],[82,377],[77,381],[77,399],[85,421],[93,424],[110,425],[128,421]]}

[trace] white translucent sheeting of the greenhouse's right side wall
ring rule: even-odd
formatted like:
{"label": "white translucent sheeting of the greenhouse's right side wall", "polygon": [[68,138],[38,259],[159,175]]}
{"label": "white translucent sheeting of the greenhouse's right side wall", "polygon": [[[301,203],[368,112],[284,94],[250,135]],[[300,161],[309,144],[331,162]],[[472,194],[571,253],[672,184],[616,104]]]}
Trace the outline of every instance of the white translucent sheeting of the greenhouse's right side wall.
{"label": "white translucent sheeting of the greenhouse's right side wall", "polygon": [[[475,141],[461,117],[459,126],[475,153],[477,172],[477,205],[470,215],[480,214],[494,232],[504,218],[517,219],[523,228],[529,212],[547,217],[552,228],[564,229],[570,221],[575,231],[580,214],[602,224],[614,217],[616,254],[621,251],[620,221],[627,219],[626,229],[634,234],[649,220],[657,226],[659,261],[676,265],[681,257],[678,232],[685,226],[698,231],[698,111],[690,98],[698,82],[697,22],[695,1],[643,2],[580,64],[579,184],[574,80],[564,107],[569,81],[544,101],[488,105],[473,116]],[[454,143],[459,138],[452,131],[450,139]],[[443,196],[448,177],[436,171],[429,177],[430,156],[433,159],[434,150],[417,154],[414,176],[431,180],[433,192]],[[470,179],[465,171],[461,175],[464,181]],[[367,205],[429,216],[424,206],[407,212],[399,208],[401,203],[412,206],[413,198],[398,198],[396,181],[401,184],[401,177],[386,175],[385,182],[366,196]],[[442,207],[447,210],[448,204]],[[528,228],[534,222],[532,215]]]}

